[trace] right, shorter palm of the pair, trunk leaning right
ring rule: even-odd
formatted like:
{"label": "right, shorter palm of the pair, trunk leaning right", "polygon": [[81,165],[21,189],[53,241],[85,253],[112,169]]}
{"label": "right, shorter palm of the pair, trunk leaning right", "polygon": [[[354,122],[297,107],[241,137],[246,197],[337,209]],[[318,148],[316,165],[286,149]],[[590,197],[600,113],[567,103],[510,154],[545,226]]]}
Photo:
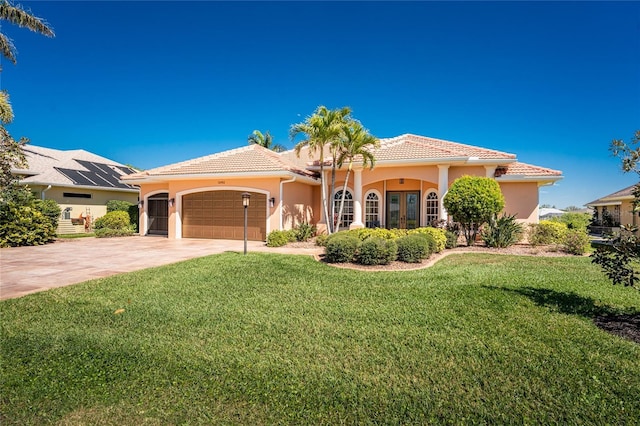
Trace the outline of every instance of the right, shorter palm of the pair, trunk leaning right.
{"label": "right, shorter palm of the pair, trunk leaning right", "polygon": [[342,188],[342,199],[340,200],[340,209],[338,210],[338,221],[336,223],[336,229],[340,229],[340,222],[342,222],[342,211],[344,210],[344,200],[347,193],[347,186],[349,184],[349,176],[353,169],[353,162],[356,157],[359,157],[362,161],[362,167],[369,166],[373,169],[376,163],[376,159],[372,153],[372,150],[380,146],[380,141],[375,136],[369,134],[369,131],[362,127],[362,124],[357,120],[352,120],[343,127],[344,144],[338,153],[337,164],[342,168],[344,162],[347,161],[349,166],[347,167],[347,174],[344,178],[344,186]]}

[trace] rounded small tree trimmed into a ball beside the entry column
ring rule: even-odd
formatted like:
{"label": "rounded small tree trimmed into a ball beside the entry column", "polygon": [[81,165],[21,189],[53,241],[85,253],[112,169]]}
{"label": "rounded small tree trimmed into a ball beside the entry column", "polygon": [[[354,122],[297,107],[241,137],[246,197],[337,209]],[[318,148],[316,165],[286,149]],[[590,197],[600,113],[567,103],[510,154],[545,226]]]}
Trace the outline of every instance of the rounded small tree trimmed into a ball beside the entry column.
{"label": "rounded small tree trimmed into a ball beside the entry column", "polygon": [[442,202],[454,220],[460,223],[467,245],[473,245],[480,226],[504,208],[504,196],[498,182],[478,176],[456,179]]}

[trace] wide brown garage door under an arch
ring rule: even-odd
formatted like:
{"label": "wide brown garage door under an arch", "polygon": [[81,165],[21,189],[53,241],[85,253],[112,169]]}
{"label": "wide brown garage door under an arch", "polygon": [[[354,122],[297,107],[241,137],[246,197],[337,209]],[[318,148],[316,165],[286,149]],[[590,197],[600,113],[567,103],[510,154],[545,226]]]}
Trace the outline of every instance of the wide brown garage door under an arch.
{"label": "wide brown garage door under an arch", "polygon": [[[182,198],[184,238],[244,239],[243,191],[206,191]],[[267,237],[267,196],[251,192],[247,207],[247,239]]]}

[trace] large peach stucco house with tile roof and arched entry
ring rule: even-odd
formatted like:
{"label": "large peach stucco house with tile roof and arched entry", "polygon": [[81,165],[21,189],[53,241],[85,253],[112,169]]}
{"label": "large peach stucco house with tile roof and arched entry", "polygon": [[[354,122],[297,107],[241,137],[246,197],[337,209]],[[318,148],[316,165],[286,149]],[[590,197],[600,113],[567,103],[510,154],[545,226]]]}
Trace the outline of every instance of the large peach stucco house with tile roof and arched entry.
{"label": "large peach stucco house with tile roof and arched entry", "polygon": [[[495,178],[506,199],[505,212],[535,223],[538,188],[562,179],[561,172],[520,163],[514,154],[456,142],[405,134],[380,143],[373,170],[354,165],[342,217],[345,228],[416,228],[446,220],[442,197],[463,175]],[[328,192],[331,158],[327,164]],[[343,169],[335,193],[328,194],[332,216],[337,214],[344,178]],[[306,148],[298,158],[292,150],[275,153],[249,145],[135,173],[122,181],[140,186],[142,234],[242,239],[243,192],[251,194],[251,240],[264,240],[272,230],[302,222],[326,229],[319,164]]]}

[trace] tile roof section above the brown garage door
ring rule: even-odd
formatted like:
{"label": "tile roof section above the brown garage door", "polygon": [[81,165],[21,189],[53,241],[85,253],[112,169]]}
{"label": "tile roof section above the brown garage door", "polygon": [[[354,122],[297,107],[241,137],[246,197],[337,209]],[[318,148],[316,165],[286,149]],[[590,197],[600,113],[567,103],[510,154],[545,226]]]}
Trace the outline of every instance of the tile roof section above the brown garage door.
{"label": "tile roof section above the brown garage door", "polygon": [[259,145],[247,145],[205,157],[170,164],[124,177],[124,180],[140,179],[148,176],[167,175],[210,175],[229,173],[259,173],[289,171],[304,176],[314,173],[298,168],[281,154]]}

